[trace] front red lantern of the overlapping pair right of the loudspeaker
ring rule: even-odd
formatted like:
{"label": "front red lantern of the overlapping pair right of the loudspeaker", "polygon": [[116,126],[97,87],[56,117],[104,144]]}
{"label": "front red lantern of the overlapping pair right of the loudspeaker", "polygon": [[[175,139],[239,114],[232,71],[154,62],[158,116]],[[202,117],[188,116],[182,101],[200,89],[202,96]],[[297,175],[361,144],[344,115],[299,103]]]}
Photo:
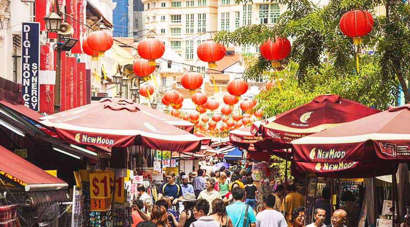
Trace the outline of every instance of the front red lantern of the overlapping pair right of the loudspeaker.
{"label": "front red lantern of the overlapping pair right of the loudspeaker", "polygon": [[87,37],[88,46],[94,51],[98,51],[101,55],[105,51],[111,49],[114,44],[112,34],[106,30],[93,31]]}

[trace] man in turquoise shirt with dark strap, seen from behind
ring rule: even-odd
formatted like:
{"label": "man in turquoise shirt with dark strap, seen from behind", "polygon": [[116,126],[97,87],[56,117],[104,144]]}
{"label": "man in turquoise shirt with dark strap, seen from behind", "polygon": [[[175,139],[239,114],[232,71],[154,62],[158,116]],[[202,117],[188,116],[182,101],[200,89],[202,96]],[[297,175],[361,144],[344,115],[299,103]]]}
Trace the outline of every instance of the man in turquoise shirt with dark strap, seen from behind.
{"label": "man in turquoise shirt with dark strap, seen from behind", "polygon": [[252,207],[246,205],[245,189],[235,187],[232,189],[232,197],[235,203],[226,207],[228,217],[232,220],[234,227],[256,227],[256,217]]}

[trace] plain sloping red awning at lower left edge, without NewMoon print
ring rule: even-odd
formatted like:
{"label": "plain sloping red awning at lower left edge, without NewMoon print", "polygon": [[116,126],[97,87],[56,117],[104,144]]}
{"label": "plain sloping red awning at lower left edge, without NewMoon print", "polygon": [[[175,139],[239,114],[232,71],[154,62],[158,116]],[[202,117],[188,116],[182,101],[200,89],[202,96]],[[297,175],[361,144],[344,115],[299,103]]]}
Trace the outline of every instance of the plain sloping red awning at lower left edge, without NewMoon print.
{"label": "plain sloping red awning at lower left edge, without NewMoon print", "polygon": [[68,184],[48,174],[20,156],[0,146],[0,176],[21,185],[25,191],[46,191],[68,188]]}

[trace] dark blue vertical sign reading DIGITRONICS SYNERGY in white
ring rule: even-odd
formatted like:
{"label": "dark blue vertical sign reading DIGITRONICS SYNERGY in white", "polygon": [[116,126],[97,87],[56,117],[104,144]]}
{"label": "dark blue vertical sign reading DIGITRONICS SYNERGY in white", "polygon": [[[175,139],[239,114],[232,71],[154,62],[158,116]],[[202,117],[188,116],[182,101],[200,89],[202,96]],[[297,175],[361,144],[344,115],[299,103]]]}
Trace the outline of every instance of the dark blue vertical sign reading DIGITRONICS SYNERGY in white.
{"label": "dark blue vertical sign reading DIGITRONICS SYNERGY in white", "polygon": [[21,72],[24,105],[39,110],[40,24],[23,22]]}

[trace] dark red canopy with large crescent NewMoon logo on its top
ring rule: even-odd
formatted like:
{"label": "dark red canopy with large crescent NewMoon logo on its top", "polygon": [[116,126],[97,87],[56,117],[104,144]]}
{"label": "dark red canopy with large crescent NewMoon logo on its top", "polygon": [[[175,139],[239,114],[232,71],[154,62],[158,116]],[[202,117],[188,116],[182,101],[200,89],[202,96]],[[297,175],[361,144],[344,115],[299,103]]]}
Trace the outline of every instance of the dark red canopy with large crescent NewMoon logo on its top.
{"label": "dark red canopy with large crescent NewMoon logo on its top", "polygon": [[262,134],[277,144],[272,149],[290,148],[292,140],[378,112],[377,109],[338,95],[320,95],[305,105],[277,115],[273,122],[262,125]]}

